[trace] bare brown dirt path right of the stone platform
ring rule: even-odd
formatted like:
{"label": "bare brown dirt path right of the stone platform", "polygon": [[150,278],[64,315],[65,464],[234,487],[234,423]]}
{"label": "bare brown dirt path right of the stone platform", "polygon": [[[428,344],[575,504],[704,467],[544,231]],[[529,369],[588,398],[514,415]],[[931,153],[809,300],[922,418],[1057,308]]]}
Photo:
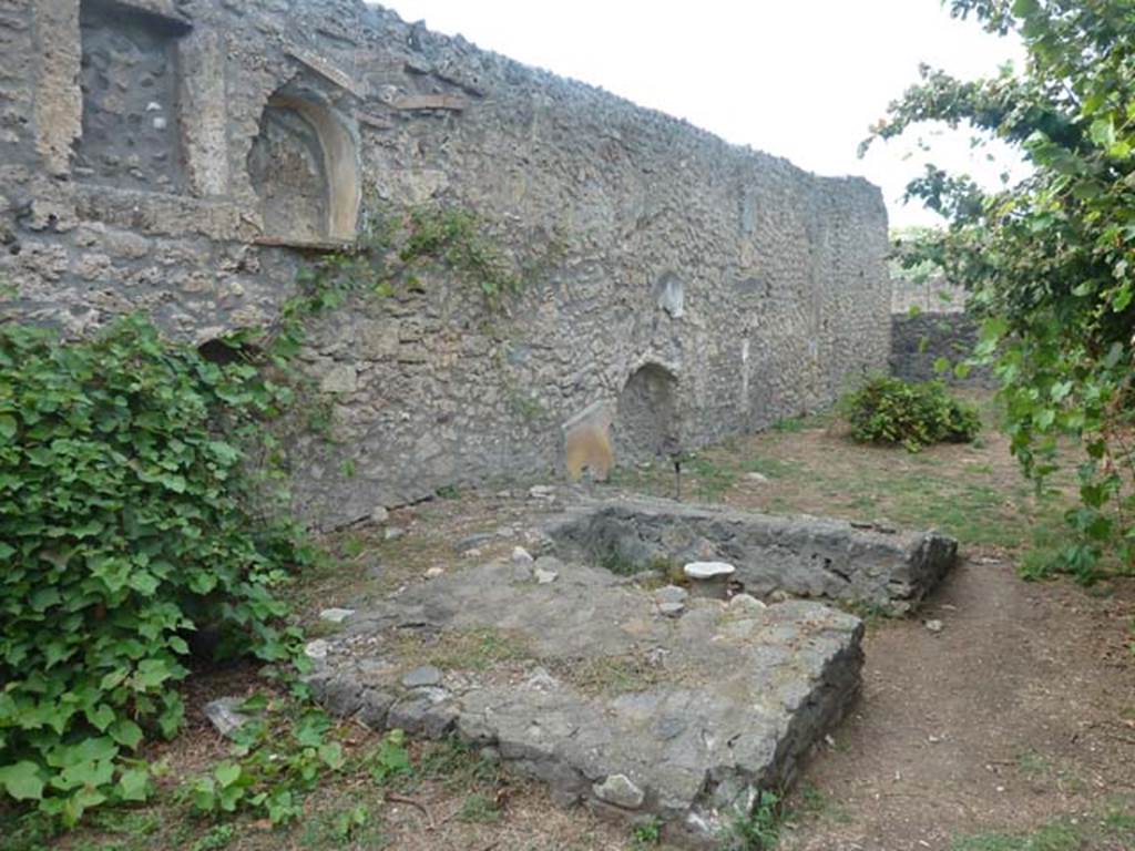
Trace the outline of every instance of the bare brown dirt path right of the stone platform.
{"label": "bare brown dirt path right of the stone platform", "polygon": [[[1091,824],[1110,815],[1129,827],[1135,816],[1129,597],[1028,584],[1008,563],[968,562],[920,620],[871,630],[861,702],[806,770],[796,802],[813,814],[783,848],[939,850],[980,834],[964,846],[1133,848],[1130,833],[1096,837]],[[1059,818],[1070,839],[1036,839]],[[990,833],[1033,834],[1035,844]]]}

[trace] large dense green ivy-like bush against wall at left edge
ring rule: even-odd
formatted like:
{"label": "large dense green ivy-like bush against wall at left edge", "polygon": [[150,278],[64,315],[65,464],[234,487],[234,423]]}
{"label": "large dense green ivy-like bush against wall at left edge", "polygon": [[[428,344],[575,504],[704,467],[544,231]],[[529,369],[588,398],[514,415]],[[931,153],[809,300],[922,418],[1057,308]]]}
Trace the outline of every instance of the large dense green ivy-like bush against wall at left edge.
{"label": "large dense green ivy-like bush against wall at left edge", "polygon": [[[64,344],[0,327],[0,790],[65,824],[142,800],[199,627],[293,658],[272,588],[306,559],[252,508],[247,448],[289,394],[129,318]],[[255,444],[252,441],[255,440]]]}

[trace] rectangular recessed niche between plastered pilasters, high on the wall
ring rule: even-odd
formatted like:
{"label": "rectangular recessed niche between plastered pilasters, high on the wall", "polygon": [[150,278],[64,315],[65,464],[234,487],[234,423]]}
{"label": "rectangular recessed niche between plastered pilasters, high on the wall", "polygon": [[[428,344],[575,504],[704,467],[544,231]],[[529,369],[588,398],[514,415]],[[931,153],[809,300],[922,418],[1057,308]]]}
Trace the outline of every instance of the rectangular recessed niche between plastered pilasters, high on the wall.
{"label": "rectangular recessed niche between plastered pilasters, high on the wall", "polygon": [[79,7],[81,182],[177,192],[185,185],[177,40],[188,26],[109,0]]}

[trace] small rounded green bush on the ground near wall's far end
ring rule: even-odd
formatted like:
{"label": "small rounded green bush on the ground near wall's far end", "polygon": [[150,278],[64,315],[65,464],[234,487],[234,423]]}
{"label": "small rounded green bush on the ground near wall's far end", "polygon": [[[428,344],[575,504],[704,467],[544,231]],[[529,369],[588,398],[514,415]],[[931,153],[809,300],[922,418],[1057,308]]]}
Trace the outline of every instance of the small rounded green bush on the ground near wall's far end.
{"label": "small rounded green bush on the ground near wall's far end", "polygon": [[840,401],[840,412],[856,440],[902,444],[910,452],[932,444],[967,443],[981,431],[977,411],[951,396],[941,381],[872,378]]}

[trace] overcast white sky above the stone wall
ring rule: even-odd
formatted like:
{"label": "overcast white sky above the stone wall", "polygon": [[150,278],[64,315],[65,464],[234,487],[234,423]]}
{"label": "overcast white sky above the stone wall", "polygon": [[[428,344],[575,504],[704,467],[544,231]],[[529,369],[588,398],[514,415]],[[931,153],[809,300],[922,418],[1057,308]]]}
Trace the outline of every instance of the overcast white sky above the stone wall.
{"label": "overcast white sky above the stone wall", "polygon": [[[822,175],[861,175],[883,188],[892,225],[933,224],[903,205],[932,159],[995,182],[1000,146],[972,152],[968,134],[910,132],[856,148],[920,61],[964,77],[1020,64],[1015,42],[952,20],[939,0],[384,0],[406,20],[461,33],[481,48],[591,83],[738,144]],[[993,152],[997,162],[989,162]],[[1009,160],[1011,161],[1011,159]]]}

